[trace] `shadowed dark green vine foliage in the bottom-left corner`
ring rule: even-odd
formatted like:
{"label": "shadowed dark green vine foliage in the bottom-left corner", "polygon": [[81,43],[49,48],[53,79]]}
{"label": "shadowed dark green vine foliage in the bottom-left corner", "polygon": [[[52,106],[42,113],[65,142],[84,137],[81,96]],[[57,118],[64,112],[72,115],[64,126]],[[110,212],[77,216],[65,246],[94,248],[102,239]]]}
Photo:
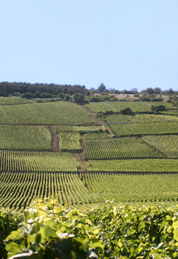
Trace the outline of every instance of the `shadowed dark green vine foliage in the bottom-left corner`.
{"label": "shadowed dark green vine foliage in the bottom-left corner", "polygon": [[0,209],[0,258],[7,258],[7,251],[5,251],[3,240],[7,238],[10,232],[18,229],[20,221],[21,214],[12,212],[7,208]]}

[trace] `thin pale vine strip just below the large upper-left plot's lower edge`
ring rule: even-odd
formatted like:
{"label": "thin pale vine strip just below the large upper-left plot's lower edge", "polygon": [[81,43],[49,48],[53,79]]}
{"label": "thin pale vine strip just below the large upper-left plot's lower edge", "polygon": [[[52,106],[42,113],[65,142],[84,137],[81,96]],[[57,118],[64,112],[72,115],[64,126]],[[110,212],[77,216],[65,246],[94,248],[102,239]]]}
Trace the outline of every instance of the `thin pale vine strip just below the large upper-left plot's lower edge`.
{"label": "thin pale vine strip just below the large upper-left plot's lower edge", "polygon": [[87,132],[101,132],[101,126],[93,125],[93,126],[71,126],[71,125],[64,125],[64,126],[54,126],[56,132],[80,132],[80,133],[87,133]]}

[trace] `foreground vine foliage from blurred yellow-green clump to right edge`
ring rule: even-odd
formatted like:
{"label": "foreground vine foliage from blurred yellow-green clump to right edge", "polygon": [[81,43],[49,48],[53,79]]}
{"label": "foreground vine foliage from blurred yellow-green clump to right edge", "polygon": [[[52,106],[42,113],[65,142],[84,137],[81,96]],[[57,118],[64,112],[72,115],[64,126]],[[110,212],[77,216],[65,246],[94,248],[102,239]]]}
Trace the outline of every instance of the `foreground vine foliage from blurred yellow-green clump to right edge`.
{"label": "foreground vine foliage from blurred yellow-green clump to right edge", "polygon": [[81,213],[36,201],[5,240],[8,258],[177,258],[178,206],[120,206]]}

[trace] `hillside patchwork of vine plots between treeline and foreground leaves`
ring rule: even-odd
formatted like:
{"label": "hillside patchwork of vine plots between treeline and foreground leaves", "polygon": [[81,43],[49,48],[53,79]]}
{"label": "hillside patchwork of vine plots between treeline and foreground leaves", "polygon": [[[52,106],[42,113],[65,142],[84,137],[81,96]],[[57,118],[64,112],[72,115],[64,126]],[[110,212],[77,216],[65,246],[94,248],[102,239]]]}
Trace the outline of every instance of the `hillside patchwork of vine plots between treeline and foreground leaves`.
{"label": "hillside patchwork of vine plots between treeline and foreground leaves", "polygon": [[[177,201],[178,116],[114,114],[105,117],[108,123],[128,124],[107,127],[94,125],[91,112],[71,102],[26,101],[0,99],[0,206],[21,209],[48,196],[69,205]],[[176,114],[170,103],[156,103],[162,104]],[[86,107],[150,112],[151,105]],[[111,129],[122,137],[114,138]]]}

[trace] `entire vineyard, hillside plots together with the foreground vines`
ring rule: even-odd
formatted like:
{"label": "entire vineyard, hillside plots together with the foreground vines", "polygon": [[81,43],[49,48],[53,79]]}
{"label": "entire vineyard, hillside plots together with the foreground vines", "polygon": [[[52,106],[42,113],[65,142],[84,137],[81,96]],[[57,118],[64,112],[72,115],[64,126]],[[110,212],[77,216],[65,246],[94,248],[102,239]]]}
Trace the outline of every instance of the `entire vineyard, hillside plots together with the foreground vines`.
{"label": "entire vineyard, hillside plots together with the foreground vines", "polygon": [[[159,250],[159,253],[167,253],[167,259],[172,258],[171,252],[168,252],[170,242],[166,242],[170,240],[177,244],[178,234],[173,240],[173,227],[168,230],[168,235],[173,230],[172,239],[163,234],[167,231],[164,227],[171,225],[172,219],[168,214],[172,210],[156,209],[157,207],[147,209],[146,206],[177,204],[178,114],[177,108],[164,102],[156,102],[156,105],[164,105],[168,110],[162,114],[152,114],[152,105],[155,103],[151,101],[118,101],[81,106],[70,101],[40,100],[37,103],[35,100],[0,97],[0,206],[5,211],[10,208],[12,218],[16,217],[13,216],[14,211],[23,212],[25,209],[26,220],[27,207],[31,206],[31,201],[39,198],[39,204],[46,204],[45,208],[43,205],[39,207],[40,219],[35,216],[36,210],[30,214],[30,207],[27,223],[23,223],[23,226],[27,226],[24,239],[21,229],[12,232],[12,240],[11,236],[6,239],[6,249],[11,253],[9,257],[15,254],[14,247],[18,247],[18,251],[23,247],[21,252],[30,254],[34,251],[33,258],[37,258],[40,249],[44,249],[42,253],[45,254],[49,248],[50,256],[46,258],[65,258],[59,256],[59,252],[52,255],[51,251],[55,249],[49,247],[53,244],[55,247],[56,240],[60,240],[62,249],[67,247],[65,242],[73,242],[75,252],[79,245],[79,254],[84,248],[86,256],[73,258],[89,258],[89,255],[90,258],[97,258],[92,257],[95,251],[93,249],[99,249],[99,259],[143,258],[146,254],[148,257],[144,258],[166,258],[155,256],[155,251],[160,247],[164,247],[164,252]],[[131,108],[133,113],[120,114],[120,110],[125,108]],[[34,204],[36,202],[38,203],[35,201]],[[114,202],[119,203],[119,206],[114,205]],[[54,204],[58,207],[54,208]],[[140,210],[130,209],[135,204],[141,206]],[[66,206],[66,209],[63,210],[62,206]],[[52,207],[54,209],[51,210]],[[76,207],[81,208],[81,212],[77,212]],[[85,210],[87,212],[84,213]],[[164,216],[160,216],[160,211],[165,213]],[[175,211],[177,209],[173,210],[172,216]],[[0,216],[2,215],[0,210]],[[163,223],[157,219],[158,216]],[[58,218],[56,221],[55,217]],[[78,221],[79,217],[84,218],[82,222]],[[177,214],[174,219],[175,217]],[[61,225],[59,219],[64,225]],[[71,219],[70,224],[68,219]],[[152,245],[148,248],[145,233],[152,231],[149,230],[149,221],[152,222],[154,231],[157,230],[157,236],[162,236],[160,240],[153,240],[155,237],[151,232]],[[92,223],[97,224],[99,229],[93,227],[95,234],[94,239],[91,239],[93,243],[90,242],[92,250],[89,250]],[[36,224],[38,234],[31,230],[31,224],[33,227]],[[43,227],[41,230],[38,229],[40,224]],[[120,235],[118,229],[123,225],[125,229]],[[1,254],[5,258],[3,240],[10,234],[2,234],[6,233],[3,230],[5,226],[0,222],[0,258]],[[177,223],[175,226],[177,231]],[[133,229],[129,230],[129,227]],[[144,228],[147,228],[147,232],[142,236]],[[77,237],[76,231],[79,231]],[[73,234],[69,235],[70,232]],[[13,233],[16,233],[15,238]],[[44,240],[44,234],[49,242],[46,246],[44,243],[39,246],[41,241],[38,237],[41,235],[40,240]],[[84,234],[86,237],[81,241]],[[133,240],[134,234],[137,236],[136,240]],[[130,235],[128,240],[127,235]],[[21,242],[23,245],[19,245]],[[25,247],[24,244],[28,245]],[[176,248],[173,251],[177,253],[177,245],[174,246]],[[40,252],[38,256],[41,258]],[[173,258],[177,256],[178,253]],[[68,257],[67,254],[66,258],[71,256]]]}

